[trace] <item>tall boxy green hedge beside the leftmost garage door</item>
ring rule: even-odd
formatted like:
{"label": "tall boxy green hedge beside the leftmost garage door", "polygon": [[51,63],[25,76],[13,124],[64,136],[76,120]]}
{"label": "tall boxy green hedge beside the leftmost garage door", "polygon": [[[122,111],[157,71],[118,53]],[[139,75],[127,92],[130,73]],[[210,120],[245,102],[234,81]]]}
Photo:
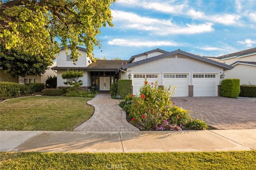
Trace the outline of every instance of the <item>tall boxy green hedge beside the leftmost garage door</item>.
{"label": "tall boxy green hedge beside the leftmost garage door", "polygon": [[120,79],[117,83],[118,95],[120,95],[122,99],[124,99],[126,95],[132,93],[132,80]]}

